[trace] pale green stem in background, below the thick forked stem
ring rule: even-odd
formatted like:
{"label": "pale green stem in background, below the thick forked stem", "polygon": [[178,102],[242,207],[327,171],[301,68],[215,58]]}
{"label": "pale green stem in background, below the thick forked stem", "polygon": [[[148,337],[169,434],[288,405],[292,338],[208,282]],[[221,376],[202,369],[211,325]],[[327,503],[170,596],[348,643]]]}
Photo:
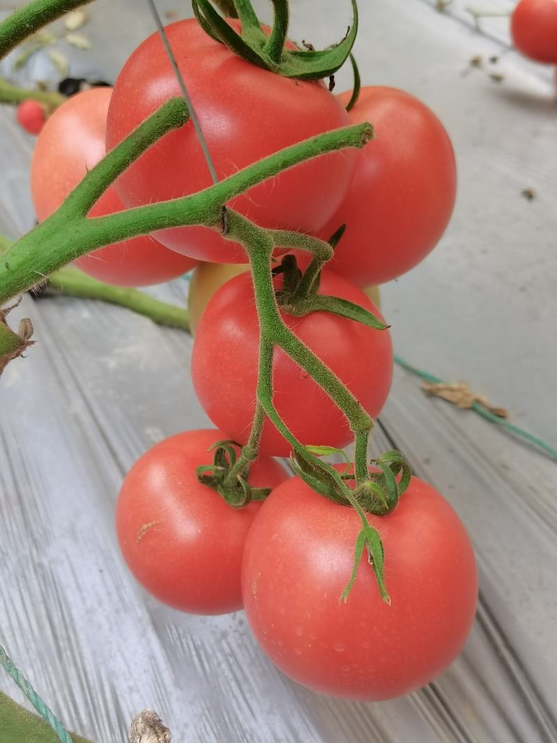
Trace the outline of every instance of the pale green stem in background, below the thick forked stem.
{"label": "pale green stem in background, below the thick forked stem", "polygon": [[[127,307],[137,314],[149,317],[159,325],[189,330],[188,312],[185,308],[160,302],[137,289],[112,286],[87,276],[77,268],[60,268],[48,280],[48,288],[82,299],[100,299],[112,305]],[[1,354],[0,354],[1,355]]]}

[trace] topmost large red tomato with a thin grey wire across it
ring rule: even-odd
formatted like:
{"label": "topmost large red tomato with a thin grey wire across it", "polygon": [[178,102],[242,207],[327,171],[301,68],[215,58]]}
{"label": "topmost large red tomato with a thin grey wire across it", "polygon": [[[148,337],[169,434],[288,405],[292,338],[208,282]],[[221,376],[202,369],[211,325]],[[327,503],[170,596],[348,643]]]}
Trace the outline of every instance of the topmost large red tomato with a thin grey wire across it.
{"label": "topmost large red tomato with a thin grey wire across it", "polygon": [[[231,25],[238,22],[231,22]],[[219,178],[273,152],[348,124],[322,82],[292,80],[244,62],[193,19],[166,27]],[[180,88],[157,33],[124,65],[108,110],[107,146],[114,147]],[[232,199],[230,206],[263,227],[316,232],[338,209],[351,181],[354,150],[314,158]],[[128,207],[191,194],[212,183],[190,121],[170,132],[119,178]],[[319,187],[318,187],[319,186]],[[168,247],[212,262],[245,263],[238,244],[206,227],[157,233]]]}

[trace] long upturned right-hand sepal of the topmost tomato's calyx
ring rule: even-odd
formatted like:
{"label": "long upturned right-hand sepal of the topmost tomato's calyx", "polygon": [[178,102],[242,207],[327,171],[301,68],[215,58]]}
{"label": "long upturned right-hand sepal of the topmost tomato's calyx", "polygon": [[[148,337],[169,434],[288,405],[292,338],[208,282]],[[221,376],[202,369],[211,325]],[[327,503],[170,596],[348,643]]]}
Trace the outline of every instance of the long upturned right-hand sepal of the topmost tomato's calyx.
{"label": "long upturned right-hand sepal of the topmost tomato's calyx", "polygon": [[358,30],[358,7],[351,0],[354,21],[342,42],[322,51],[284,51],[280,74],[284,77],[297,77],[299,80],[322,80],[329,77],[344,65],[356,41]]}

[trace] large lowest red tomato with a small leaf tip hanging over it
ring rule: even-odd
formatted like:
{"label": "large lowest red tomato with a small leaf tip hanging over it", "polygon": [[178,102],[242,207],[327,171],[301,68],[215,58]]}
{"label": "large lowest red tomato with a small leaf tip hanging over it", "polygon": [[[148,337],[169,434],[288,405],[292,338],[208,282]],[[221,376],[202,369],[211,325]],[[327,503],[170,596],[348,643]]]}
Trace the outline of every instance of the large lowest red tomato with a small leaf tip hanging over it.
{"label": "large lowest red tomato with a small leaf tip hanging over it", "polygon": [[452,507],[412,478],[389,516],[368,515],[385,548],[382,602],[364,553],[348,602],[361,528],[356,511],[290,478],[247,537],[247,620],[279,669],[310,689],[381,700],[428,684],[468,635],[478,594],[472,545]]}

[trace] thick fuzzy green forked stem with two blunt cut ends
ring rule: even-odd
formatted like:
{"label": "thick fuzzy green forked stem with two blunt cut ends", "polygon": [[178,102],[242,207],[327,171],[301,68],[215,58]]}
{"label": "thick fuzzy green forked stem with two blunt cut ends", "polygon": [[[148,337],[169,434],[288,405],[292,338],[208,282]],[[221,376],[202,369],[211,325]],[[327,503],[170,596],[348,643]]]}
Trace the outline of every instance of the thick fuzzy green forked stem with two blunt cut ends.
{"label": "thick fuzzy green forked stem with two blunt cut ends", "polygon": [[0,305],[97,247],[169,227],[205,224],[220,229],[222,207],[229,199],[304,160],[345,147],[362,147],[372,133],[369,124],[335,129],[276,152],[194,195],[84,218],[94,199],[149,146],[149,137],[153,141],[152,137],[181,126],[185,115],[181,99],[166,103],[95,166],[59,210],[4,253]]}

